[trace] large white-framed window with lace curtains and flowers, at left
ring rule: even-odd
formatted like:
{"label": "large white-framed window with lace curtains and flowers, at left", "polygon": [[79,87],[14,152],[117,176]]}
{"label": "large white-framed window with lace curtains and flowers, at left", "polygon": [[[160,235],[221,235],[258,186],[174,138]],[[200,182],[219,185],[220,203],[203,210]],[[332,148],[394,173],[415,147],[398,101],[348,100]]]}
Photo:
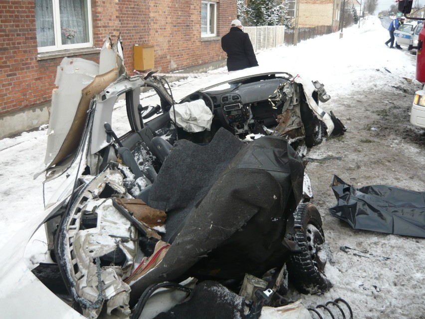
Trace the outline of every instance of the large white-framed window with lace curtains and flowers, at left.
{"label": "large white-framed window with lace curtains and flowers, at left", "polygon": [[92,46],[90,0],[35,0],[38,52]]}

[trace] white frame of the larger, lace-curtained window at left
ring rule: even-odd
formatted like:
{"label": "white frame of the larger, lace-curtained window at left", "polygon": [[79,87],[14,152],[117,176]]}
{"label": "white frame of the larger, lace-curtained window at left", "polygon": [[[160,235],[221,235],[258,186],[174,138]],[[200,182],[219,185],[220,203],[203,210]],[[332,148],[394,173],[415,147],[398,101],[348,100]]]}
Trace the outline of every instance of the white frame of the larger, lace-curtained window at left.
{"label": "white frame of the larger, lace-curtained window at left", "polygon": [[47,53],[47,52],[63,51],[68,49],[80,49],[80,48],[93,47],[93,19],[92,19],[92,12],[91,12],[91,0],[84,0],[86,2],[85,5],[87,6],[87,29],[88,29],[89,41],[84,43],[75,43],[75,44],[62,44],[62,43],[59,44],[59,41],[61,41],[59,0],[50,0],[50,1],[52,2],[52,9],[53,9],[53,27],[54,27],[55,45],[40,47],[38,46],[38,42],[37,42],[38,53]]}

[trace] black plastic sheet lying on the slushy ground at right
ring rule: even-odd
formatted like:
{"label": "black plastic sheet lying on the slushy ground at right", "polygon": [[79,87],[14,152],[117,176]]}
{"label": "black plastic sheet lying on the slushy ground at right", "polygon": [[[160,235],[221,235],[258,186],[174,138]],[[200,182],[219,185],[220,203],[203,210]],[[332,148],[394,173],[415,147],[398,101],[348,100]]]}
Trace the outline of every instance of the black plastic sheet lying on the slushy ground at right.
{"label": "black plastic sheet lying on the slushy ground at right", "polygon": [[329,212],[354,229],[425,237],[425,192],[388,185],[355,188],[334,176]]}

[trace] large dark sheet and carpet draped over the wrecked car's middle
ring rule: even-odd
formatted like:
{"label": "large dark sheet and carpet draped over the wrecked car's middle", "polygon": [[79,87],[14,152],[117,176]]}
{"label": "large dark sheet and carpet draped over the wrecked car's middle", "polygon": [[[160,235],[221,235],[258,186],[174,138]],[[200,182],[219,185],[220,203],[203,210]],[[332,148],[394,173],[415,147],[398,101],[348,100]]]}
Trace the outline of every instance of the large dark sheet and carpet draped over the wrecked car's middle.
{"label": "large dark sheet and carpet draped over the wrecked car's middle", "polygon": [[[220,130],[221,137],[217,136]],[[215,152],[208,151],[209,147],[215,147],[213,142],[190,147],[188,144],[191,142],[188,141],[174,146],[153,183],[151,192],[161,192],[158,186],[165,185],[162,198],[170,199],[165,202],[168,206],[160,206],[164,204],[161,194],[149,194],[152,207],[165,207],[167,233],[170,232],[170,224],[167,224],[170,211],[178,210],[182,203],[189,208],[180,225],[175,225],[176,237],[173,236],[172,245],[161,263],[131,284],[130,305],[134,305],[150,285],[162,281],[182,277],[237,281],[242,280],[245,273],[261,276],[269,269],[281,268],[287,259],[288,250],[282,244],[282,236],[289,214],[302,198],[304,166],[301,159],[286,139],[262,136],[239,147],[240,150],[236,150],[237,154],[227,161],[225,167],[220,163],[210,163],[208,171],[214,172],[207,172],[206,162],[221,158],[221,153],[235,151],[231,150],[234,148],[231,138],[236,138],[230,135],[227,139],[225,136],[230,133],[220,130],[213,139],[218,139]],[[199,149],[199,154],[191,149]],[[210,160],[201,154],[203,151],[210,154]],[[185,157],[188,160],[183,160]],[[170,165],[170,174],[165,174]],[[189,172],[192,168],[198,171],[192,174]],[[215,174],[217,170],[219,172]],[[176,175],[181,172],[189,173],[186,176]],[[195,173],[200,175],[197,188],[189,183],[194,183]],[[202,194],[202,198],[191,201],[189,191],[199,196],[197,192],[204,189],[201,188],[201,175],[206,174],[208,179],[205,182],[210,188]],[[182,176],[182,179],[173,180],[175,175]],[[212,183],[210,176],[214,178]],[[185,180],[189,181],[188,185]],[[157,190],[154,189],[155,184]],[[170,186],[167,188],[166,184]]]}

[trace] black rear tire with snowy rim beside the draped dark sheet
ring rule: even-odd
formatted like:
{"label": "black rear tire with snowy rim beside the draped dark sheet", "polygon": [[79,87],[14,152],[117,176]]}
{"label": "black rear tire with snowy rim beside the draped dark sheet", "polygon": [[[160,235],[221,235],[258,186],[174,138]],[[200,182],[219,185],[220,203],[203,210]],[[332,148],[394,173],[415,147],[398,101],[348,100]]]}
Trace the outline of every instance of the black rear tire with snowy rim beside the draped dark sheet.
{"label": "black rear tire with snowy rim beside the draped dark sheet", "polygon": [[327,262],[322,218],[311,203],[301,203],[294,212],[294,232],[289,239],[301,252],[293,253],[288,263],[291,283],[304,294],[320,295],[332,288],[324,268]]}

